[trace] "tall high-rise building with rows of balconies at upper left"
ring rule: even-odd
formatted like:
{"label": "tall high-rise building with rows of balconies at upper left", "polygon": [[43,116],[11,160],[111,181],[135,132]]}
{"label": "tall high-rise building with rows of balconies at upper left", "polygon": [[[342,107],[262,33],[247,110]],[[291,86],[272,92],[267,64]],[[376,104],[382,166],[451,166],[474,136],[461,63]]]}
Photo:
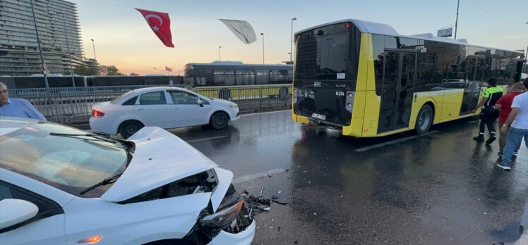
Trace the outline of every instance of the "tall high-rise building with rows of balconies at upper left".
{"label": "tall high-rise building with rows of balconies at upper left", "polygon": [[71,74],[70,58],[73,67],[83,64],[76,4],[64,0],[1,0],[0,75],[42,74],[31,4],[35,11],[44,68],[49,73]]}

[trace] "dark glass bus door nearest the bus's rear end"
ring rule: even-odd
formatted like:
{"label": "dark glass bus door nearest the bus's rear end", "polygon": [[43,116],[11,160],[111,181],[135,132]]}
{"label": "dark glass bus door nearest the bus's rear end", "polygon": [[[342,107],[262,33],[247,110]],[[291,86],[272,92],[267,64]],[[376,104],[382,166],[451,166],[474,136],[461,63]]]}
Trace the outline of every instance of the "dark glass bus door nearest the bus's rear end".
{"label": "dark glass bus door nearest the bus's rear end", "polygon": [[378,134],[409,127],[416,52],[385,51]]}

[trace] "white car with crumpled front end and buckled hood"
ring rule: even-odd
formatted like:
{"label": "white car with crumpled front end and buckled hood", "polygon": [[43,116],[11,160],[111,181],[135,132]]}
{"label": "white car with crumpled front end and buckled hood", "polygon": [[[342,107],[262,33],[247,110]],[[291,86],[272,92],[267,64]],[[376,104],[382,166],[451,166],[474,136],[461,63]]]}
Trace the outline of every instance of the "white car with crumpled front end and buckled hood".
{"label": "white car with crumpled front end and buckled hood", "polygon": [[0,117],[1,244],[251,244],[232,172],[159,127],[128,140]]}

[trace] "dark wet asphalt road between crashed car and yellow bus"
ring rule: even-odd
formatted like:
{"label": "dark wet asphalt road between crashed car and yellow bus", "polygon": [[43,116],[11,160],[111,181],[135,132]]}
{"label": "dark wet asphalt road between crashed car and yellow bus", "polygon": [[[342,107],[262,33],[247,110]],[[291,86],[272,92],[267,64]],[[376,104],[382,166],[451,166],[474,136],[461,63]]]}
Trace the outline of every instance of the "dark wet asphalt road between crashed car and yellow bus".
{"label": "dark wet asphalt road between crashed car and yellow bus", "polygon": [[494,167],[498,141],[474,142],[476,123],[354,139],[280,111],[171,132],[232,170],[239,191],[289,203],[256,216],[253,244],[528,244],[528,150],[511,172]]}

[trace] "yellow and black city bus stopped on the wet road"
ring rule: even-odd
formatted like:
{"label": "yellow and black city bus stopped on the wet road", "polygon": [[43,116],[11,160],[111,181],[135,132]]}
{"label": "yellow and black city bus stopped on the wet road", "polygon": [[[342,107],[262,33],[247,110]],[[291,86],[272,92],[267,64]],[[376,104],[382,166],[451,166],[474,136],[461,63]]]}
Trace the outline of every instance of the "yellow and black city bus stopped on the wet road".
{"label": "yellow and black city bus stopped on the wet road", "polygon": [[488,77],[519,81],[522,52],[340,20],[295,34],[296,122],[381,137],[472,115]]}

